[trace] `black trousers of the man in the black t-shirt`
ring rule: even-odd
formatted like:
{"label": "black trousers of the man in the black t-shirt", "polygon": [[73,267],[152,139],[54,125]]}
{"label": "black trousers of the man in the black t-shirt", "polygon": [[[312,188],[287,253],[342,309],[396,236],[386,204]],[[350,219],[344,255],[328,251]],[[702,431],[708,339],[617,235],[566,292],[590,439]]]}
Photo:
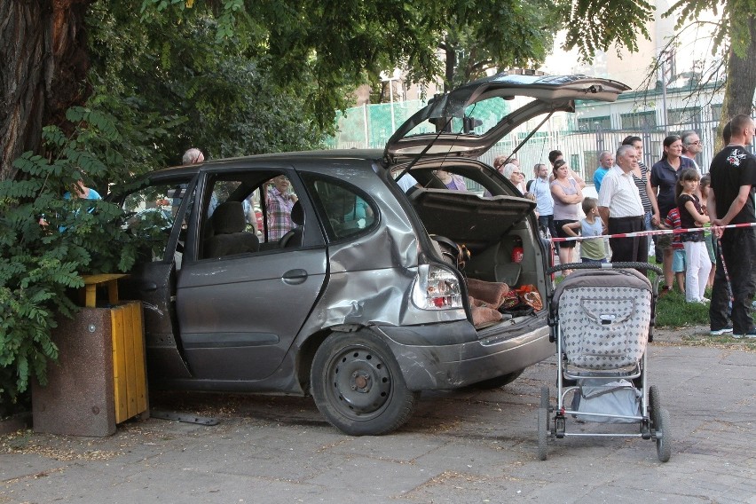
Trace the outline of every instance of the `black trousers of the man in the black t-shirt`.
{"label": "black trousers of the man in the black t-shirt", "polygon": [[[751,318],[751,300],[756,292],[753,281],[754,254],[756,232],[752,227],[725,230],[721,238],[721,255],[717,255],[712,304],[709,306],[709,324],[713,330],[727,327],[728,278],[733,296],[733,333],[745,335],[754,330]],[[724,264],[721,256],[724,256]]]}

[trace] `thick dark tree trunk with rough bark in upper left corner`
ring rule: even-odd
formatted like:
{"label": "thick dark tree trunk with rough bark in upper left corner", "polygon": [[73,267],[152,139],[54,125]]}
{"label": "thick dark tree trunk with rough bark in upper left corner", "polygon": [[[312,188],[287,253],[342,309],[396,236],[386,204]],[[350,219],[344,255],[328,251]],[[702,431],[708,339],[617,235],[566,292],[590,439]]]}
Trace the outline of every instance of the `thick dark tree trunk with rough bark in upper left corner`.
{"label": "thick dark tree trunk with rough bark in upper left corner", "polygon": [[66,109],[90,92],[84,14],[93,0],[0,0],[0,181],[40,152],[42,127],[65,129]]}

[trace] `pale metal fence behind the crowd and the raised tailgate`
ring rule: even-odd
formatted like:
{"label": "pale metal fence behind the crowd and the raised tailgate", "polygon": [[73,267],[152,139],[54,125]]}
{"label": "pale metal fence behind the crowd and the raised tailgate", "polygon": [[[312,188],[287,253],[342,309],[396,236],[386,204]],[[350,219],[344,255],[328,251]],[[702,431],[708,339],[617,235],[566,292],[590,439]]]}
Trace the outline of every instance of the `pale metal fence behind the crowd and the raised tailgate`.
{"label": "pale metal fence behind the crowd and the raised tailgate", "polygon": [[[425,103],[420,100],[395,102],[393,104],[376,104],[353,107],[347,114],[340,114],[337,118],[338,133],[327,141],[330,148],[379,148],[382,149],[392,132],[419,110]],[[501,111],[497,111],[501,112]],[[640,115],[640,114],[639,114]],[[480,126],[487,130],[492,126],[494,114],[485,118]],[[573,120],[556,121],[555,123],[577,123]],[[393,127],[392,127],[393,124]],[[718,145],[717,128],[719,122],[695,121],[669,124],[667,126],[647,127],[640,130],[610,130],[597,126],[595,130],[564,129],[553,130],[551,122],[544,124],[526,144],[520,146],[516,157],[526,178],[532,178],[533,167],[536,163],[548,161],[548,153],[554,149],[562,151],[564,159],[570,167],[576,170],[588,183],[593,178],[598,166],[599,154],[604,151],[614,152],[622,140],[628,135],[643,139],[643,162],[651,167],[659,161],[663,154],[662,142],[667,135],[680,134],[682,131],[694,130],[701,138],[703,151],[698,154],[696,161],[703,173],[709,169],[716,147]],[[516,146],[527,136],[526,128],[521,127],[502,138],[480,157],[481,161],[492,164],[493,159],[500,154],[512,154]],[[753,152],[753,146],[750,147]]]}

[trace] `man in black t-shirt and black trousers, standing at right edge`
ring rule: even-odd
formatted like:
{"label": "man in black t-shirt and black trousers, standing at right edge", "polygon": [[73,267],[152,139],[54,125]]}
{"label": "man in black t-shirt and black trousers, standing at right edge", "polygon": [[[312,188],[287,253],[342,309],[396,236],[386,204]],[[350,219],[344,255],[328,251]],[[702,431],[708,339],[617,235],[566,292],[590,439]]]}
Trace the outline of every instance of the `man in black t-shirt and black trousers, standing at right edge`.
{"label": "man in black t-shirt and black trousers, standing at right edge", "polygon": [[[745,146],[752,142],[754,123],[750,116],[736,115],[730,121],[730,143],[714,156],[709,173],[712,177],[707,207],[712,225],[746,224],[756,222],[753,206],[756,186],[756,158]],[[753,281],[756,231],[753,227],[713,229],[721,239],[724,266],[732,286],[732,329],[727,325],[727,279],[721,257],[717,257],[709,324],[712,335],[733,332],[736,338],[756,338],[751,318],[751,299],[756,293]]]}

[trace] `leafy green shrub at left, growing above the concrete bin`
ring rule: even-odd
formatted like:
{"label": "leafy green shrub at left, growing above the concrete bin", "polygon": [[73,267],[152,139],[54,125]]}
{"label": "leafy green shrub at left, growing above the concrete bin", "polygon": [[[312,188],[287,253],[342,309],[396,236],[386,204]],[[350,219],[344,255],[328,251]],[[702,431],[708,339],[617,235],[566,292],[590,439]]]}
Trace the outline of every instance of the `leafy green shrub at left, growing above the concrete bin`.
{"label": "leafy green shrub at left, growing above the concrete bin", "polygon": [[75,130],[44,128],[47,156],[23,154],[14,161],[20,177],[0,183],[0,404],[17,400],[32,377],[45,382],[58,357],[51,330],[77,310],[69,295],[82,275],[128,271],[139,247],[118,206],[64,197],[78,177],[93,186],[122,168],[102,161],[117,158],[122,139],[112,116],[87,107],[67,116]]}

